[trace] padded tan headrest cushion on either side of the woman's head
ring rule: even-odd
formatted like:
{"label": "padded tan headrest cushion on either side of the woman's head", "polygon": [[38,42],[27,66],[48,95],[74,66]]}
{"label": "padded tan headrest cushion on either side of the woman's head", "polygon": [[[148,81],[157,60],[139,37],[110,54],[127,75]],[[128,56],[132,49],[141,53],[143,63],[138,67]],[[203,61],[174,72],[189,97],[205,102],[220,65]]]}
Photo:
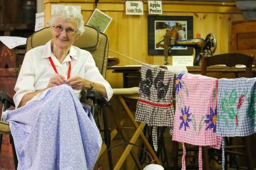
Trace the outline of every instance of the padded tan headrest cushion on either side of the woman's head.
{"label": "padded tan headrest cushion on either side of the woman's head", "polygon": [[[51,28],[43,28],[39,31],[36,31],[31,36],[31,47],[35,48],[41,45],[45,45],[48,41],[52,39]],[[100,33],[95,28],[90,26],[85,26],[85,32],[77,39],[73,46],[78,48],[95,51],[98,49],[100,44]]]}

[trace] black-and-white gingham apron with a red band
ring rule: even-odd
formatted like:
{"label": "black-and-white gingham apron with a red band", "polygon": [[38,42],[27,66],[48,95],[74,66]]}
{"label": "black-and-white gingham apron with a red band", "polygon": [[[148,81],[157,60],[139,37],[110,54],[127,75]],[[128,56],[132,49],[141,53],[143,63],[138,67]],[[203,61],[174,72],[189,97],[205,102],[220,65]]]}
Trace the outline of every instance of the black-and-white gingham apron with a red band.
{"label": "black-and-white gingham apron with a red band", "polygon": [[175,73],[170,70],[145,63],[141,67],[135,120],[153,126],[152,140],[156,151],[156,126],[173,127],[174,79]]}

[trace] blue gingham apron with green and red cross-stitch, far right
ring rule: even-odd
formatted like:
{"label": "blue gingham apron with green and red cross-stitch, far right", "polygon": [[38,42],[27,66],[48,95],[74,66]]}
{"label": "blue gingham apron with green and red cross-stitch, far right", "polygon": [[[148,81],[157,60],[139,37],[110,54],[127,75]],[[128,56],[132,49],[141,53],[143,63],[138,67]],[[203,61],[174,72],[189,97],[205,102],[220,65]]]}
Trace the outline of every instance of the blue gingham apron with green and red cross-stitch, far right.
{"label": "blue gingham apron with green and red cross-stitch, far right", "polygon": [[[256,78],[219,79],[216,133],[222,137],[247,136],[256,132]],[[222,140],[224,170],[225,140]]]}

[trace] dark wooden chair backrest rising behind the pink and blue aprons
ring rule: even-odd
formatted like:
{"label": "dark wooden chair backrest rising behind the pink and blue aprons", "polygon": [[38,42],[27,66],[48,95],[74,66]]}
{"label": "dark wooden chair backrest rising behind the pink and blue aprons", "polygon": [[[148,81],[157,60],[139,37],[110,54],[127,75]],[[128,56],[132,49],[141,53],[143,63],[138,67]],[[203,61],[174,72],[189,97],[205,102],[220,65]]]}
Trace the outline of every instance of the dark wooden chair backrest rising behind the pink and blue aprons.
{"label": "dark wooden chair backrest rising behind the pink and blue aprons", "polygon": [[228,67],[234,67],[235,65],[245,65],[245,77],[250,78],[252,76],[253,60],[254,55],[245,55],[239,53],[219,54],[209,57],[203,56],[201,75],[206,76],[207,67],[212,65],[225,64]]}

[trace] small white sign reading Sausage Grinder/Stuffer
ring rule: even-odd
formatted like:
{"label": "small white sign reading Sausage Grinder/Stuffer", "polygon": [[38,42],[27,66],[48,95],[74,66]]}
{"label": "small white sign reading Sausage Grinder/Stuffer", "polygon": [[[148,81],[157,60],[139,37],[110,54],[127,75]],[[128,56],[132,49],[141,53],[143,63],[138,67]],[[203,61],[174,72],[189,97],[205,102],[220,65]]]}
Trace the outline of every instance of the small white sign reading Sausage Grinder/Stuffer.
{"label": "small white sign reading Sausage Grinder/Stuffer", "polygon": [[126,15],[143,15],[142,1],[126,1]]}

